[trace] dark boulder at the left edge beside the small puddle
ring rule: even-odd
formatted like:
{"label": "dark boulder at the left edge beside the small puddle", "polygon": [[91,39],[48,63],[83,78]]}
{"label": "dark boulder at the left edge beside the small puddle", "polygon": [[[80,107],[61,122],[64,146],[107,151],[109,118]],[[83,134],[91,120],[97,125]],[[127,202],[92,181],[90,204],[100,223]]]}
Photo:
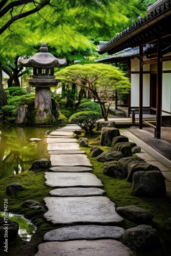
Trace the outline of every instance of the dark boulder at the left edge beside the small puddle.
{"label": "dark boulder at the left edge beside the small puddle", "polygon": [[[11,221],[8,219],[8,226],[4,222],[4,219],[0,220],[0,244],[5,245],[5,242],[11,242],[14,238],[18,236],[19,225],[16,221]],[[5,234],[8,235],[7,240],[5,240]],[[8,248],[8,243],[7,243]],[[4,248],[5,249],[5,248]],[[8,254],[8,253],[7,253]]]}

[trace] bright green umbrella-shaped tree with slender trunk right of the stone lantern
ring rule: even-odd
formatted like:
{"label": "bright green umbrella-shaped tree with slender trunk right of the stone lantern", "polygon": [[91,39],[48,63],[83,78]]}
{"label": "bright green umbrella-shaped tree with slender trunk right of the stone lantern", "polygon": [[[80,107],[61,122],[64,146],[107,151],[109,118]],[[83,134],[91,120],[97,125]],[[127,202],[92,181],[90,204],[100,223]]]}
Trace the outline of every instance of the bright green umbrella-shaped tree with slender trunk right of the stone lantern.
{"label": "bright green umbrella-shaped tree with slender trunk right of the stone lantern", "polygon": [[[104,120],[108,120],[109,107],[114,91],[120,94],[130,92],[131,84],[124,73],[112,65],[102,63],[72,65],[56,73],[58,78],[86,88],[99,102]],[[104,99],[108,101],[106,109]]]}

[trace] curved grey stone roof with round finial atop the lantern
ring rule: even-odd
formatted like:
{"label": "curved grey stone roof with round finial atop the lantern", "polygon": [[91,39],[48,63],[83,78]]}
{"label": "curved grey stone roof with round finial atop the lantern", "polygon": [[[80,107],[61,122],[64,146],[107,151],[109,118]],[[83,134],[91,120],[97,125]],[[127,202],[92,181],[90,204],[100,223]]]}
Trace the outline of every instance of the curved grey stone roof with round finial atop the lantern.
{"label": "curved grey stone roof with round finial atop the lantern", "polygon": [[19,63],[24,67],[33,68],[60,68],[67,64],[66,59],[58,59],[53,56],[53,54],[49,53],[45,43],[41,44],[39,50],[40,52],[34,54],[29,59],[20,59]]}

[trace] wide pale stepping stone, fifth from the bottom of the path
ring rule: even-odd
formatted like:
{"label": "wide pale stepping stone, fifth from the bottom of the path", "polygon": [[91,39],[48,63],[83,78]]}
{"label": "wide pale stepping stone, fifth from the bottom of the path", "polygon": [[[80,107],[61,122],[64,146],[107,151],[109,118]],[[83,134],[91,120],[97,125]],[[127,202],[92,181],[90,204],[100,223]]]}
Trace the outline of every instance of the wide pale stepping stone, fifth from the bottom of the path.
{"label": "wide pale stepping stone, fifth from the bottom of the path", "polygon": [[90,173],[45,173],[50,187],[103,187],[101,180]]}

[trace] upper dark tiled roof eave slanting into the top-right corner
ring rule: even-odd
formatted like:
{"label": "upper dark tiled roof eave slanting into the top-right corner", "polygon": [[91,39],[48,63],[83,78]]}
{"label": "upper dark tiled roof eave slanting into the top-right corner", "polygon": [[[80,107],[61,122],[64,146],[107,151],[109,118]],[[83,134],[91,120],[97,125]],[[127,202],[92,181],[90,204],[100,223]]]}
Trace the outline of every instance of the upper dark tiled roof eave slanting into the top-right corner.
{"label": "upper dark tiled roof eave slanting into the top-right corner", "polygon": [[[156,24],[157,22],[160,22],[162,19],[167,17],[167,15],[169,17],[170,14],[171,14],[171,1],[164,1],[162,5],[157,6],[155,9],[152,9],[152,11],[148,13],[147,17],[139,18],[139,20],[136,23],[132,24],[131,27],[124,29],[122,32],[118,33],[110,41],[106,42],[102,46],[99,46],[99,48],[96,51],[98,51],[100,54],[103,54],[105,52],[111,53],[110,50],[112,48],[116,47],[117,45],[123,44],[125,40],[129,41],[129,38],[133,38],[133,37],[134,37],[134,42],[131,42],[130,40],[127,43],[127,46],[138,45],[138,41],[140,41],[140,38],[135,38],[135,35],[137,35],[137,33],[139,34],[142,33],[152,25]],[[170,17],[169,17],[169,20],[170,20]],[[169,26],[170,26],[170,21],[169,21]],[[155,29],[150,33],[151,34],[155,33]],[[148,36],[149,35],[146,35],[146,37]],[[126,47],[123,46],[122,49],[124,48]],[[116,49],[116,51],[113,51],[112,53],[114,52],[118,52],[118,49]]]}

